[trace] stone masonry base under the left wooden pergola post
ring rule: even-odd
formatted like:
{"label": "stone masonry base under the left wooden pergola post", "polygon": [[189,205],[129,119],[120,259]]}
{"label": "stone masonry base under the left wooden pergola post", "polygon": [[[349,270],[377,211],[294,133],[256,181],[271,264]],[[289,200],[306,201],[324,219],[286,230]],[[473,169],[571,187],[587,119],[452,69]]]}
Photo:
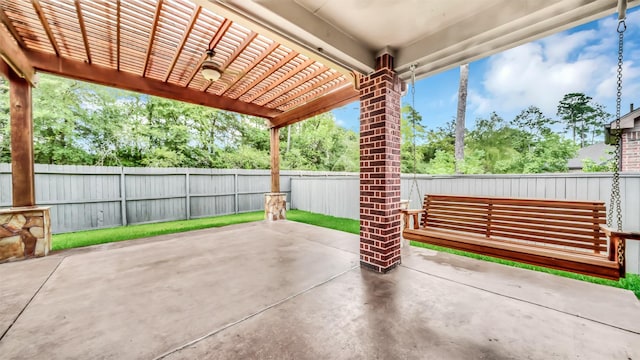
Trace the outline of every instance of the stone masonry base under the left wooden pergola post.
{"label": "stone masonry base under the left wooden pergola post", "polygon": [[0,210],[0,262],[45,256],[50,249],[48,207]]}

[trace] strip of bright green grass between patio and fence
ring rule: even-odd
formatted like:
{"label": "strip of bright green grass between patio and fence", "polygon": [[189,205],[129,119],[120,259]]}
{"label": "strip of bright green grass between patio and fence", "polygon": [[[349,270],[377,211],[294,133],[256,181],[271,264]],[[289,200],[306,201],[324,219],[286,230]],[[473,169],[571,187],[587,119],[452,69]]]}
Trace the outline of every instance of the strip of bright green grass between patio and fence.
{"label": "strip of bright green grass between patio and fence", "polygon": [[[220,227],[231,224],[240,224],[251,221],[259,221],[264,219],[264,212],[257,211],[251,213],[243,213],[236,215],[224,215],[211,218],[197,219],[197,220],[181,220],[170,221],[164,223],[144,224],[144,225],[131,225],[110,229],[89,230],[80,231],[75,233],[58,234],[53,235],[53,250],[68,249],[96,244],[104,244],[114,241],[139,239],[149,236],[172,234],[183,231],[206,229],[212,227]],[[302,222],[305,224],[321,226],[325,228],[341,230],[352,234],[360,233],[360,223],[357,220],[338,218],[334,216],[322,215],[310,213],[301,210],[290,210],[287,212],[287,219],[291,221]],[[477,255],[465,251],[447,249],[440,246],[434,246],[429,244],[423,244],[419,242],[411,242],[411,245],[417,247],[423,247],[436,251],[442,251],[450,254],[466,256],[474,259],[480,259],[484,261],[490,261],[503,265],[518,267],[522,269],[534,270],[554,274],[558,276],[564,276],[572,279],[588,281],[601,285],[614,286],[618,288],[628,289],[633,291],[640,299],[640,275],[627,274],[627,277],[620,279],[619,281],[612,281],[601,279],[593,276],[586,276],[580,274],[574,274],[566,271],[554,270],[543,268],[539,266],[518,263],[509,260],[498,259],[494,257]]]}

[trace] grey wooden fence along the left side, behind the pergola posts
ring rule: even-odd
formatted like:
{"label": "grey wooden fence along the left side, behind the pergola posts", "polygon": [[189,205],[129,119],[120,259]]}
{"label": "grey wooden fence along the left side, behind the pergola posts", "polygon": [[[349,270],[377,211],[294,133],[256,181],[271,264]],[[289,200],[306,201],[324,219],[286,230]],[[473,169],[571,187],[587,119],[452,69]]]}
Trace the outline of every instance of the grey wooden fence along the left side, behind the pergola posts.
{"label": "grey wooden fence along the left side, behind the pergola posts", "polygon": [[[53,233],[264,210],[268,170],[121,168],[36,164],[36,202],[51,206]],[[329,173],[282,171],[291,177]],[[11,167],[0,164],[0,207],[11,206]]]}

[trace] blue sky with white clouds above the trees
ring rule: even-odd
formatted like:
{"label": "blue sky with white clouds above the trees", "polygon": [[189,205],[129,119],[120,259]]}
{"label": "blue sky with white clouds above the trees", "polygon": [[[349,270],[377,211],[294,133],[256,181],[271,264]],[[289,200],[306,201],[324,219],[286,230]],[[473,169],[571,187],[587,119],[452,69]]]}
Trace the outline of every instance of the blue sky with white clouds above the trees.
{"label": "blue sky with white clouds above the trees", "polygon": [[[467,128],[492,111],[511,120],[529,105],[555,118],[564,94],[583,92],[615,113],[618,37],[615,15],[521,45],[469,65]],[[640,9],[627,13],[622,114],[640,107]],[[453,119],[459,68],[416,82],[416,108],[427,128]],[[402,99],[410,103],[410,91]],[[333,111],[338,123],[359,130],[358,103]]]}

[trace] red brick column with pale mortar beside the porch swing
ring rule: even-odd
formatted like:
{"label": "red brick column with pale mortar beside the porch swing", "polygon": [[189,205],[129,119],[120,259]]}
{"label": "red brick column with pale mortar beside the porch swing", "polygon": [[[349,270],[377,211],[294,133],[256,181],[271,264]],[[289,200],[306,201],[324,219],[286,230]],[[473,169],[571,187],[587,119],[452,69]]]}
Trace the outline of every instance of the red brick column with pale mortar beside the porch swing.
{"label": "red brick column with pale mortar beside the porch swing", "polygon": [[386,273],[400,263],[400,97],[393,57],[360,79],[360,265]]}

